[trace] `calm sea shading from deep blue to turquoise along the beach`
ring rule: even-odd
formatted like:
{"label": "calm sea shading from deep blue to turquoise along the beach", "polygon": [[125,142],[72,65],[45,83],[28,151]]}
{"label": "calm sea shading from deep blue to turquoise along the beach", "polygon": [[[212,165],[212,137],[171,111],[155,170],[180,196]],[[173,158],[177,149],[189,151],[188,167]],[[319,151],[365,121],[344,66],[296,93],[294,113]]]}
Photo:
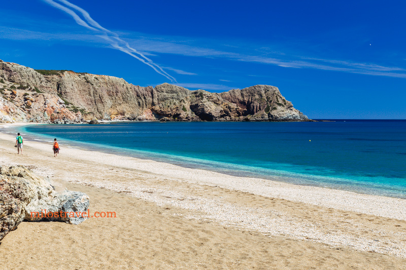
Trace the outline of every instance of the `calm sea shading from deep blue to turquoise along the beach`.
{"label": "calm sea shading from deep blue to turquoise along the beach", "polygon": [[131,122],[24,129],[25,136],[56,137],[61,146],[406,199],[406,121]]}

